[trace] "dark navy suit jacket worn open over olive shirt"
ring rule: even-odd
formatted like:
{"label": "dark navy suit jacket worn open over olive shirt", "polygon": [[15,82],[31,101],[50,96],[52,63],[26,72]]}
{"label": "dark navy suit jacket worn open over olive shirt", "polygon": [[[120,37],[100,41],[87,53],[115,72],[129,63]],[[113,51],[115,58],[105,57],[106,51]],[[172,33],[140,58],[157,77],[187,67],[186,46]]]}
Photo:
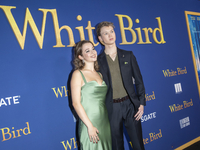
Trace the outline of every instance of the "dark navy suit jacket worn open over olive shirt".
{"label": "dark navy suit jacket worn open over olive shirt", "polygon": [[[117,54],[124,88],[126,89],[130,100],[134,104],[135,109],[137,110],[140,104],[144,106],[146,105],[145,88],[139,66],[135,56],[131,51],[125,51],[117,48]],[[112,80],[105,52],[102,52],[98,56],[98,64],[100,66],[99,71],[103,75],[103,79],[108,86],[106,107],[108,110],[108,117],[111,119],[113,111]],[[133,84],[133,78],[135,79],[135,87]]]}

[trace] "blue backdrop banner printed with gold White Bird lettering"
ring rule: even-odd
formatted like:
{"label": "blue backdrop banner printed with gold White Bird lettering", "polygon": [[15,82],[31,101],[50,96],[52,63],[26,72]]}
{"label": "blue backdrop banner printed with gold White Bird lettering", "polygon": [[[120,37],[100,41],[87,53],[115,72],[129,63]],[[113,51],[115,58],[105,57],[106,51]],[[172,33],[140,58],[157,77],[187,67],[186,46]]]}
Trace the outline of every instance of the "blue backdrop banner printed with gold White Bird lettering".
{"label": "blue backdrop banner printed with gold White Bird lettering", "polygon": [[[114,23],[117,46],[140,66],[145,148],[181,150],[200,140],[200,1],[1,0],[1,150],[78,150],[73,46],[87,39],[99,54],[102,21]],[[126,131],[124,141],[131,150]]]}

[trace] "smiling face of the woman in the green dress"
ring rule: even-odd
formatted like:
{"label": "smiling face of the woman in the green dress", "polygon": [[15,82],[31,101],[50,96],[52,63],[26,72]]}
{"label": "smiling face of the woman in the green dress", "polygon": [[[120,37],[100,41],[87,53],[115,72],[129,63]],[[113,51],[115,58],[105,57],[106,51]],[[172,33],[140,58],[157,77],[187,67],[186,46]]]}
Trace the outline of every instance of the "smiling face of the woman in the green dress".
{"label": "smiling face of the woman in the green dress", "polygon": [[85,43],[82,46],[82,56],[79,55],[79,59],[85,62],[95,62],[97,60],[97,51],[91,43]]}

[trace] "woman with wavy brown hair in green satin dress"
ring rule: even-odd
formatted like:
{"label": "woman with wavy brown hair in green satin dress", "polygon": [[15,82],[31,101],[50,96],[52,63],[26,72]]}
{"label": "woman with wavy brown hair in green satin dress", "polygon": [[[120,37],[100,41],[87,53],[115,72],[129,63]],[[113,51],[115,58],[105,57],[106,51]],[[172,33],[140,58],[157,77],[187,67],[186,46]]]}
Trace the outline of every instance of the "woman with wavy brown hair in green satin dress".
{"label": "woman with wavy brown hair in green satin dress", "polygon": [[111,150],[111,131],[105,97],[107,86],[97,72],[97,52],[92,42],[83,40],[75,47],[75,71],[71,79],[72,104],[81,119],[81,150]]}

